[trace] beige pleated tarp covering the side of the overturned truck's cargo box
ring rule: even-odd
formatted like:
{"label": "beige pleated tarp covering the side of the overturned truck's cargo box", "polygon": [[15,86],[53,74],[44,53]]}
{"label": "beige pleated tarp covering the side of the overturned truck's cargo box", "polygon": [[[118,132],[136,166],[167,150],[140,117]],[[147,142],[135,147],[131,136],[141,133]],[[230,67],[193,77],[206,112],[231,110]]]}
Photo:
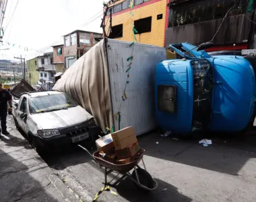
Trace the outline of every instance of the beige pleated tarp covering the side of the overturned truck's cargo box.
{"label": "beige pleated tarp covering the side of the overturned truck's cargo box", "polygon": [[104,40],[79,58],[57,81],[53,90],[66,92],[94,116],[102,128],[113,125]]}

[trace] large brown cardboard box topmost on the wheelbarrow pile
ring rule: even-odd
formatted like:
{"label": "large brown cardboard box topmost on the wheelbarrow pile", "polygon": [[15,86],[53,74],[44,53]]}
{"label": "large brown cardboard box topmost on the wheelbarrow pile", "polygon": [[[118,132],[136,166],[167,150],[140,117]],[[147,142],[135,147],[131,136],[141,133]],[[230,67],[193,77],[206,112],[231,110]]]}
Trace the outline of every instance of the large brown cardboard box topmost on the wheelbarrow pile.
{"label": "large brown cardboard box topmost on the wheelbarrow pile", "polygon": [[116,149],[124,149],[137,142],[137,137],[133,127],[127,127],[112,133],[113,143]]}

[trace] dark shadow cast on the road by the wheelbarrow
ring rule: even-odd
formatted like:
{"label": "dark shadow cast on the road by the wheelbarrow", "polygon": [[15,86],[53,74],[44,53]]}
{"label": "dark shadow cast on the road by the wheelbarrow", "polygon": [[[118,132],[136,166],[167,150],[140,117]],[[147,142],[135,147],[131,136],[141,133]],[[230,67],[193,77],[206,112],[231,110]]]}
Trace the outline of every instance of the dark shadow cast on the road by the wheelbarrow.
{"label": "dark shadow cast on the road by the wheelbarrow", "polygon": [[172,186],[160,179],[156,179],[158,182],[158,189],[152,192],[147,192],[139,189],[131,180],[126,178],[122,182],[119,183],[115,189],[117,189],[117,193],[127,199],[127,201],[131,202],[169,202],[169,201],[192,201],[189,197],[179,193],[177,187]]}

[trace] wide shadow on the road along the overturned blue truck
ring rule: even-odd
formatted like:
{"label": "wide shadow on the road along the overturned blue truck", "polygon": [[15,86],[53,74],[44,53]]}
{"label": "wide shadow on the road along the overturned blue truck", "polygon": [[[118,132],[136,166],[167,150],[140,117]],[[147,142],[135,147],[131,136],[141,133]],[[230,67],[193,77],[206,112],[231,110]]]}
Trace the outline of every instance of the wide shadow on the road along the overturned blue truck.
{"label": "wide shadow on the road along the overturned blue truck", "polygon": [[212,139],[213,144],[209,147],[199,145],[198,141],[203,139],[203,135],[174,140],[171,136],[161,137],[158,133],[150,133],[138,139],[148,156],[232,175],[237,175],[250,158],[256,158],[255,136],[206,137]]}

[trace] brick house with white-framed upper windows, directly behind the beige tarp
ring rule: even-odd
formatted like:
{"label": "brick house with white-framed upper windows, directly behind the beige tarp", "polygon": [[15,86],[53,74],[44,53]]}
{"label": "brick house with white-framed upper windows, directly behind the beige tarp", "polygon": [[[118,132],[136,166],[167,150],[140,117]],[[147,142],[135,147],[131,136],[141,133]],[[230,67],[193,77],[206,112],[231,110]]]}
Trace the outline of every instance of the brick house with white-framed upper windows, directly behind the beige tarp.
{"label": "brick house with white-framed upper windows, directly behind the beige tarp", "polygon": [[64,66],[71,67],[79,57],[82,57],[97,39],[102,38],[101,33],[75,30],[64,36]]}

